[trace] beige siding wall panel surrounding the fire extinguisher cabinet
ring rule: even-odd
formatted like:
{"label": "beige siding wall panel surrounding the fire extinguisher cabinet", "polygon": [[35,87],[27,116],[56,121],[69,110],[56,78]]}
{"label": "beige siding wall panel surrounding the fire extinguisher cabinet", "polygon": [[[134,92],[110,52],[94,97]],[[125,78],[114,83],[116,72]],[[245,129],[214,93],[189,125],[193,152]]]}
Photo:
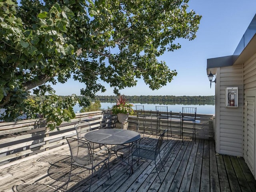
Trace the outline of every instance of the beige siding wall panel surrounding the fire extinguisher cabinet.
{"label": "beige siding wall panel surrounding the fire extinguisher cabinet", "polygon": [[[242,65],[217,70],[216,152],[232,156],[243,154],[243,70]],[[238,87],[238,108],[226,107],[226,88]]]}

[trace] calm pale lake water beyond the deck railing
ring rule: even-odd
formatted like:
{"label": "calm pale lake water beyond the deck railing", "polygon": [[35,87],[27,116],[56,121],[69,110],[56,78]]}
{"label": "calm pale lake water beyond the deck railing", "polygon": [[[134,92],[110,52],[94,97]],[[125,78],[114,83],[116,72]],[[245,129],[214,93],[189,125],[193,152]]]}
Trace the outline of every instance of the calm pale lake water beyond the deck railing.
{"label": "calm pale lake water beyond the deck railing", "polygon": [[[101,108],[102,109],[108,109],[112,108],[115,103],[105,103],[102,102]],[[168,110],[172,112],[182,112],[182,107],[196,107],[196,113],[197,114],[215,114],[215,105],[209,105],[209,104],[200,104],[200,105],[183,105],[183,104],[141,104],[141,103],[134,103],[133,109],[136,110],[135,105],[144,105],[145,110],[152,110],[156,111],[156,106],[168,106]],[[78,104],[74,106],[74,112],[78,112],[81,109]]]}

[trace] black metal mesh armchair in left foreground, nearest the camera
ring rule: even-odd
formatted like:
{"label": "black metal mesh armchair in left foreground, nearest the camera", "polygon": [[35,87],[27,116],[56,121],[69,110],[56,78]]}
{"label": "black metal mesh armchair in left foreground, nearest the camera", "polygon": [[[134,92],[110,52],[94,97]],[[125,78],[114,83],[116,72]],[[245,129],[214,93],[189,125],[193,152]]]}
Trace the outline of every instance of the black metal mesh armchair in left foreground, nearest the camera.
{"label": "black metal mesh armchair in left foreground, nearest the camera", "polygon": [[[109,158],[110,158],[109,150],[108,150],[108,153],[105,155],[94,154],[92,152],[89,142],[84,140],[79,140],[76,138],[66,138],[66,140],[68,141],[68,146],[70,148],[70,154],[71,154],[71,166],[70,166],[68,183],[70,182],[72,167],[76,166],[76,167],[92,170],[91,182],[89,187],[89,191],[90,191],[90,188],[92,185],[93,171],[97,166],[100,166],[100,164],[103,163],[103,165],[100,167],[99,174],[98,174],[98,178],[100,178],[101,169],[107,162],[108,162],[108,172],[111,178],[110,169],[109,169]],[[66,188],[68,188],[68,183]]]}

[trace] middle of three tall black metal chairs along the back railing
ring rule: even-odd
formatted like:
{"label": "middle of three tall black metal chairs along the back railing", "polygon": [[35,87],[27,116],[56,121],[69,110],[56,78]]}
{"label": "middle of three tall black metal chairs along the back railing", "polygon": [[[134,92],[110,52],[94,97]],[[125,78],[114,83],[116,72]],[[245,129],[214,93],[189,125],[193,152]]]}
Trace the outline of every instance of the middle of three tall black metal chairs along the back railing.
{"label": "middle of three tall black metal chairs along the back railing", "polygon": [[168,111],[168,106],[156,106],[156,137],[157,137],[157,130],[158,130],[158,124],[159,129],[161,132],[162,128],[162,122],[161,120],[167,120],[167,139],[168,139],[168,130],[169,130],[169,119],[170,119],[170,130],[171,130],[171,136],[172,136],[172,111]]}

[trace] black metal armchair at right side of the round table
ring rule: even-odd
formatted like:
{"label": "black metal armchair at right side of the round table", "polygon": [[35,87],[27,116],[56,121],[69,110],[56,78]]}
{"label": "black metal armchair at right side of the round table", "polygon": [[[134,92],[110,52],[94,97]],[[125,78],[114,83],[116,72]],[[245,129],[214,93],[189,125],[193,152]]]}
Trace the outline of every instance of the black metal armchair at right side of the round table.
{"label": "black metal armchair at right side of the round table", "polygon": [[[167,132],[167,130],[164,130],[164,132],[159,136],[158,139],[142,137],[142,138],[140,138],[139,144],[132,146],[132,159],[133,159],[133,156],[138,157],[137,165],[139,164],[139,159],[140,158],[146,158],[146,159],[154,160],[155,168],[156,168],[156,158],[159,155],[162,168],[164,169],[164,166],[163,166],[162,160],[161,160],[161,156],[160,156],[160,150],[161,150],[161,146],[162,146],[162,143],[163,143],[164,134],[166,132]],[[142,142],[143,143],[146,142],[149,145],[141,144]],[[156,168],[156,172],[157,172],[157,175],[160,179],[157,168]],[[160,181],[161,181],[161,179],[160,179]]]}

